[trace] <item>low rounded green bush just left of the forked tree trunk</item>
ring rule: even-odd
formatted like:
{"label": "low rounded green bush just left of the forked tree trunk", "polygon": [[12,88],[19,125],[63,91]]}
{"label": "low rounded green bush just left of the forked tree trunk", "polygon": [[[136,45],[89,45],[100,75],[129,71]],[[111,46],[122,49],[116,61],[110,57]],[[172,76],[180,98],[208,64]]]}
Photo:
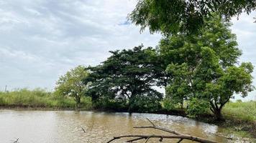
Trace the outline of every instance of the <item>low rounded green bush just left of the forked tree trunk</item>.
{"label": "low rounded green bush just left of the forked tree trunk", "polygon": [[206,114],[209,111],[210,104],[204,99],[192,98],[188,101],[187,114],[188,117],[198,117],[198,115]]}

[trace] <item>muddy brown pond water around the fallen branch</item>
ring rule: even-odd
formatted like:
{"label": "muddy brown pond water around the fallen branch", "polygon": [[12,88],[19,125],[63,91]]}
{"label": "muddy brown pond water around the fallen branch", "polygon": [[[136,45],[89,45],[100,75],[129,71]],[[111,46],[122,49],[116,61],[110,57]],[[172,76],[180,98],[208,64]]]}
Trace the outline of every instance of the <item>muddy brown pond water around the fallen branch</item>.
{"label": "muddy brown pond water around the fallen branch", "polygon": [[[124,134],[168,134],[153,129],[132,128],[150,125],[146,118],[157,125],[183,134],[204,137],[216,142],[227,142],[223,137],[214,135],[219,131],[219,127],[178,116],[9,109],[0,110],[0,142],[9,143],[17,138],[20,143],[106,142],[114,136]],[[86,133],[81,130],[81,127],[86,130]],[[142,141],[145,142],[145,140]],[[157,142],[157,140],[150,139],[149,142]],[[163,142],[177,142],[177,140],[164,139]]]}

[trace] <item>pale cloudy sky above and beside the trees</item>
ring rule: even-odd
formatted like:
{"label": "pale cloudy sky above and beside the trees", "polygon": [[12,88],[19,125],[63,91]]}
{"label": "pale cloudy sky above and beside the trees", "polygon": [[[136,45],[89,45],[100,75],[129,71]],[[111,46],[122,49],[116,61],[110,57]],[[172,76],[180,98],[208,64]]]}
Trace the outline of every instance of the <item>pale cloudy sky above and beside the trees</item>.
{"label": "pale cloudy sky above and beside the trees", "polygon": [[[155,47],[160,34],[127,21],[137,0],[0,0],[0,91],[54,89],[78,65],[100,64],[116,49]],[[256,12],[232,19],[243,55],[256,66]],[[256,70],[253,72],[256,78]],[[256,85],[256,79],[254,79]],[[238,98],[237,98],[238,99]],[[245,99],[256,99],[256,91]]]}

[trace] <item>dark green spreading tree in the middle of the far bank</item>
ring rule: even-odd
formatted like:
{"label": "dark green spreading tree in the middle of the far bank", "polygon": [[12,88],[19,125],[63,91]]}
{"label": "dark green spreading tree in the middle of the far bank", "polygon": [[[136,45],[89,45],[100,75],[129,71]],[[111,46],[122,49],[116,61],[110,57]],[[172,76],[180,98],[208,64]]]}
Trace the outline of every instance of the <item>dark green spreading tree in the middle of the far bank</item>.
{"label": "dark green spreading tree in the middle of the far bank", "polygon": [[101,65],[88,68],[90,76],[86,81],[91,81],[88,92],[93,102],[122,100],[127,102],[129,112],[160,106],[162,94],[153,89],[156,69],[152,54],[155,51],[137,46],[110,52],[112,55]]}

